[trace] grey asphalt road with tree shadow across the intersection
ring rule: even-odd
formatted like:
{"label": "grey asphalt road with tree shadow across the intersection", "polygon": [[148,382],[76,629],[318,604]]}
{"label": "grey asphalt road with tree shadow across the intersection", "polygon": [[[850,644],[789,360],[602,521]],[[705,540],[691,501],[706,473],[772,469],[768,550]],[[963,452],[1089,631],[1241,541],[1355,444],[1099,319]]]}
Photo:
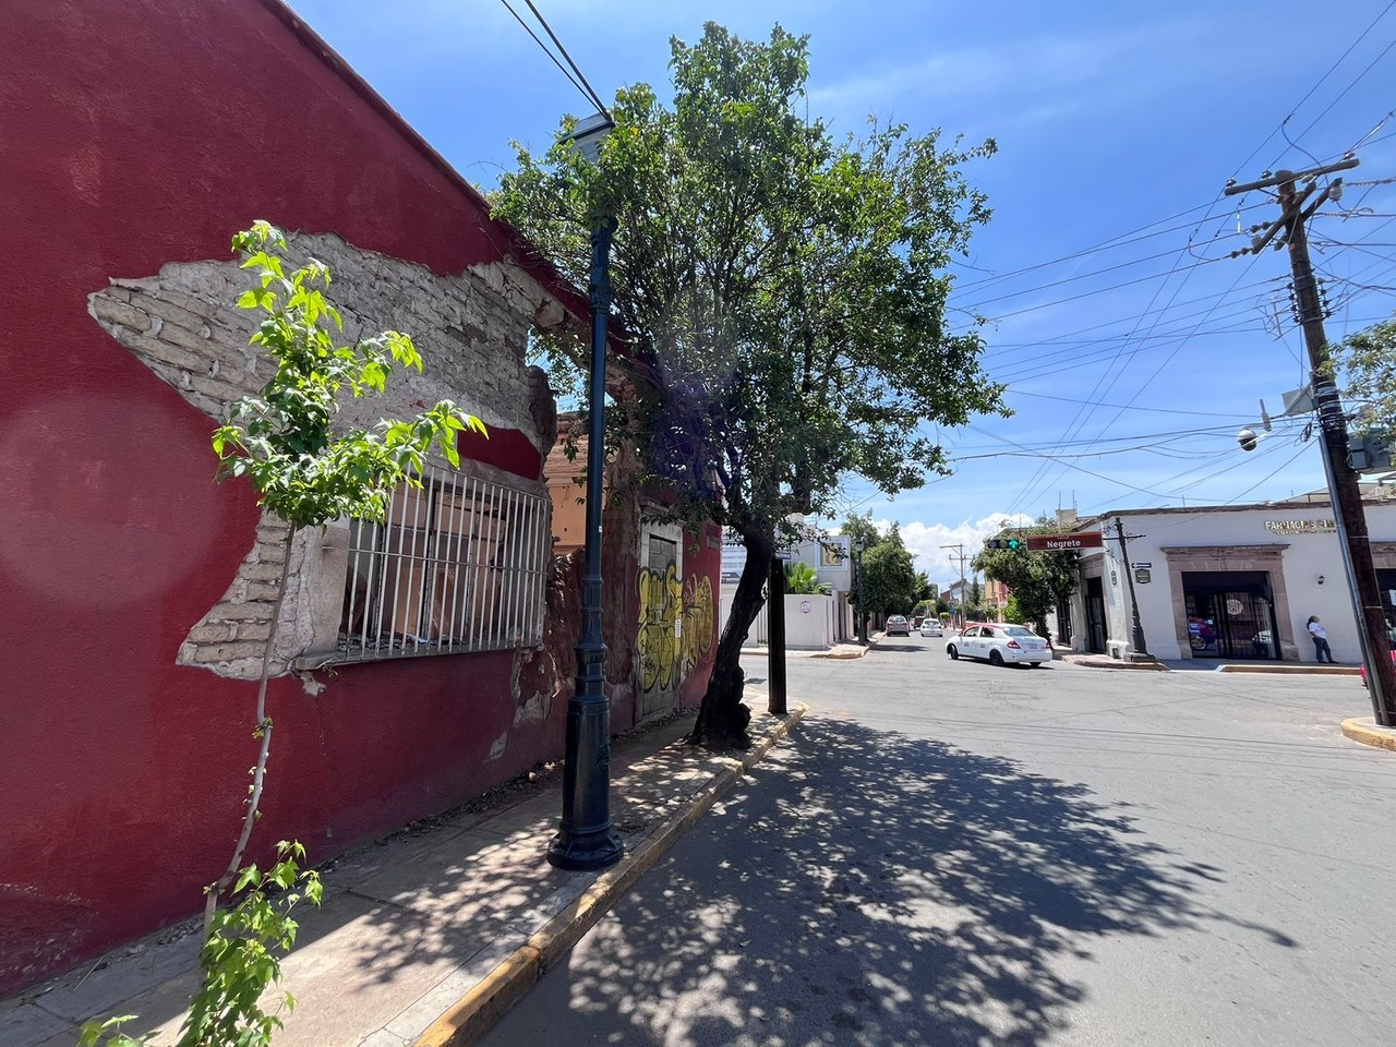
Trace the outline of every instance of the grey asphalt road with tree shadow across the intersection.
{"label": "grey asphalt road with tree shadow across the intersection", "polygon": [[912,637],[789,681],[814,715],[486,1043],[1396,1043],[1396,752],[1337,733],[1356,680]]}

